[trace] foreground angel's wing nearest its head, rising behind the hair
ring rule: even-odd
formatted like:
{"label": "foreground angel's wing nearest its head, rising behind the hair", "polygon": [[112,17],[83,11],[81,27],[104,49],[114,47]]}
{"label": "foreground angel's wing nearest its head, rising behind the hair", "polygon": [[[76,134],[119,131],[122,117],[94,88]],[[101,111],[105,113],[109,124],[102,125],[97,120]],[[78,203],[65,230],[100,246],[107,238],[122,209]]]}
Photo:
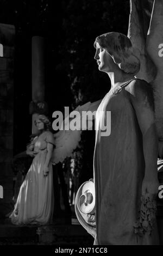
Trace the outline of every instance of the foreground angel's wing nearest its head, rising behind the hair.
{"label": "foreground angel's wing nearest its head, rising behind the hair", "polygon": [[146,39],[152,13],[153,1],[130,0],[128,38],[131,40],[135,53],[140,59],[141,67],[137,78],[151,82],[155,76],[155,65],[147,49]]}

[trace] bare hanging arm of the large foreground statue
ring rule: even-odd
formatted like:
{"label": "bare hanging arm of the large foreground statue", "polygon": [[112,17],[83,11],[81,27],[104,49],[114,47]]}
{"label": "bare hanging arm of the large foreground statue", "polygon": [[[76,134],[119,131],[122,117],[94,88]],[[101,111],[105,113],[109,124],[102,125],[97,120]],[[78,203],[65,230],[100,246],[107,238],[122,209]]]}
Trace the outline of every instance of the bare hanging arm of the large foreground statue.
{"label": "bare hanging arm of the large foreground statue", "polygon": [[154,121],[152,91],[143,80],[135,80],[129,85],[130,102],[133,105],[137,121],[142,132],[143,154],[145,158],[145,176],[142,192],[158,192],[158,136]]}

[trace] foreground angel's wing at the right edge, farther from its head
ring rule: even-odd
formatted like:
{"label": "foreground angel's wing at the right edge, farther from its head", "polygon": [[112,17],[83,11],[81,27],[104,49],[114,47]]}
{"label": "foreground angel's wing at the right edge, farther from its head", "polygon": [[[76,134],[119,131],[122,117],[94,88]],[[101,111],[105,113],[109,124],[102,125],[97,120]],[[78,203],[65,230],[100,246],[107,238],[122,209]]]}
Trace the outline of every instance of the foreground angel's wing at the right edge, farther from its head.
{"label": "foreground angel's wing at the right edge, farther from its head", "polygon": [[151,84],[154,88],[156,127],[160,141],[163,139],[163,57],[159,56],[161,43],[163,43],[163,1],[156,0],[153,4],[146,49],[156,66],[156,76]]}

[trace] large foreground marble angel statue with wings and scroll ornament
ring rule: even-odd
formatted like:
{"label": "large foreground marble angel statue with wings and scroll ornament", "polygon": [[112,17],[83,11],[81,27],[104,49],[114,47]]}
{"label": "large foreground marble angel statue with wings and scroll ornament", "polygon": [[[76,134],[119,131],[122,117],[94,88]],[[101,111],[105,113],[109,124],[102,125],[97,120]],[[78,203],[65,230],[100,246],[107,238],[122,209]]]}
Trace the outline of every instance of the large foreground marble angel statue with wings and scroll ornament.
{"label": "large foreground marble angel statue with wings and scroll ornament", "polygon": [[155,196],[157,157],[163,158],[162,10],[162,0],[130,0],[128,38],[111,32],[95,40],[98,69],[111,80],[96,119],[105,118],[98,116],[100,109],[111,110],[112,134],[106,139],[96,132],[95,187],[93,180],[85,182],[75,205],[95,245],[159,244]]}

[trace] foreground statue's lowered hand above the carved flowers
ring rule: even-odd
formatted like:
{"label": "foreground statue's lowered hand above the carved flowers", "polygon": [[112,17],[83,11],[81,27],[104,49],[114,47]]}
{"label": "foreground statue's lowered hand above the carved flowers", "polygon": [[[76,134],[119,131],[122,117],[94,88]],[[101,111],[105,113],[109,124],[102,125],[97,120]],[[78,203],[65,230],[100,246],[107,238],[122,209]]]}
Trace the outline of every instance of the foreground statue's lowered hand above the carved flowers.
{"label": "foreground statue's lowered hand above the carved flowers", "polygon": [[142,196],[145,196],[146,193],[151,194],[151,196],[156,197],[159,188],[158,179],[143,179],[142,182]]}

